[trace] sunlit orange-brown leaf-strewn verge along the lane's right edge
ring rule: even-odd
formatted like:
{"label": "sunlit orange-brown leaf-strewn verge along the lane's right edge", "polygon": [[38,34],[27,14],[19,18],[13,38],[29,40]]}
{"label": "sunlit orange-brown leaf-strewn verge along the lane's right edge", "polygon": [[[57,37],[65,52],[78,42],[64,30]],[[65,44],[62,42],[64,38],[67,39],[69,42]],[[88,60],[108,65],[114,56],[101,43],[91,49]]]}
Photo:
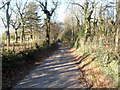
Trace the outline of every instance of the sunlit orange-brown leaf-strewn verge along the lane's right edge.
{"label": "sunlit orange-brown leaf-strewn verge along the lane's right edge", "polygon": [[80,48],[75,50],[71,49],[71,54],[76,57],[75,62],[82,62],[78,64],[78,67],[84,72],[86,80],[89,83],[93,83],[92,88],[113,88],[111,84],[113,81],[104,73],[102,66],[95,60],[95,54],[92,53],[88,57],[84,58],[85,55],[82,54]]}

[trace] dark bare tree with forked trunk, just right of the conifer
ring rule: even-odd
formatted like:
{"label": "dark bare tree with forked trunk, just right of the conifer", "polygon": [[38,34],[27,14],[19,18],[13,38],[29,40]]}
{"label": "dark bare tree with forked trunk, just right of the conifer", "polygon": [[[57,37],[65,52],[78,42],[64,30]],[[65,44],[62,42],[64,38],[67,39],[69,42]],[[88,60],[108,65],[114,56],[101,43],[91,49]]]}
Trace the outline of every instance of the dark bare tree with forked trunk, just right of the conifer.
{"label": "dark bare tree with forked trunk, just right of the conifer", "polygon": [[54,8],[51,8],[51,10],[48,10],[48,0],[45,0],[44,2],[42,2],[41,0],[36,0],[36,1],[39,2],[39,6],[41,7],[42,11],[46,15],[46,19],[45,19],[46,42],[47,42],[47,45],[49,45],[50,44],[50,20],[51,20],[51,16],[53,15],[53,13],[55,12],[58,6],[58,1],[57,2],[52,1]]}

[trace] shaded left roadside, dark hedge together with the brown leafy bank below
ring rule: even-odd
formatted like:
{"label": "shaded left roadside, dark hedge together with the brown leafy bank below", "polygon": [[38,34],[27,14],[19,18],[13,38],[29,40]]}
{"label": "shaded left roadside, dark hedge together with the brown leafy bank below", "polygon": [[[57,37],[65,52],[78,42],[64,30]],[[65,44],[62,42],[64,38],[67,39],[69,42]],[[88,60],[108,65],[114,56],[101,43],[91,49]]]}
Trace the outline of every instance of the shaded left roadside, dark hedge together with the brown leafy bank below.
{"label": "shaded left roadside, dark hedge together with the brown leafy bank below", "polygon": [[51,55],[58,48],[58,44],[40,47],[35,44],[31,50],[15,53],[13,51],[2,52],[2,88],[10,89],[30,70],[43,62],[44,58]]}

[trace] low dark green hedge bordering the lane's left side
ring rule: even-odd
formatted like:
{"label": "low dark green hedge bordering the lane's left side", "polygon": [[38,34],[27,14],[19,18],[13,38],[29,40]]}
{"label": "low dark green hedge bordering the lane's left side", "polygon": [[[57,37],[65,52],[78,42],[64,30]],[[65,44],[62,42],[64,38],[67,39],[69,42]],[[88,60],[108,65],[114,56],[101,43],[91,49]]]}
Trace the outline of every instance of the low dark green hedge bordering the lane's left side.
{"label": "low dark green hedge bordering the lane's left side", "polygon": [[13,51],[3,51],[2,52],[2,67],[3,68],[13,68],[17,65],[20,65],[23,62],[28,62],[33,59],[36,56],[38,52],[45,51],[47,49],[55,48],[57,43],[53,43],[50,46],[45,47],[39,47],[37,44],[35,44],[35,48],[31,50],[25,50],[19,53],[14,53]]}

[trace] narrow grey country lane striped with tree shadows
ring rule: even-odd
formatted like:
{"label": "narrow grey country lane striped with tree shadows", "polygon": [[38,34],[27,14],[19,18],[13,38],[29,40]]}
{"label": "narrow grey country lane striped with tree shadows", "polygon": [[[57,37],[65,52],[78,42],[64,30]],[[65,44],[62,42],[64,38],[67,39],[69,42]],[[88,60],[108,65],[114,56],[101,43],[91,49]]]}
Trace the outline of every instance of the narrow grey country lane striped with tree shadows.
{"label": "narrow grey country lane striped with tree shadows", "polygon": [[78,80],[79,70],[73,59],[61,46],[13,88],[85,88]]}

